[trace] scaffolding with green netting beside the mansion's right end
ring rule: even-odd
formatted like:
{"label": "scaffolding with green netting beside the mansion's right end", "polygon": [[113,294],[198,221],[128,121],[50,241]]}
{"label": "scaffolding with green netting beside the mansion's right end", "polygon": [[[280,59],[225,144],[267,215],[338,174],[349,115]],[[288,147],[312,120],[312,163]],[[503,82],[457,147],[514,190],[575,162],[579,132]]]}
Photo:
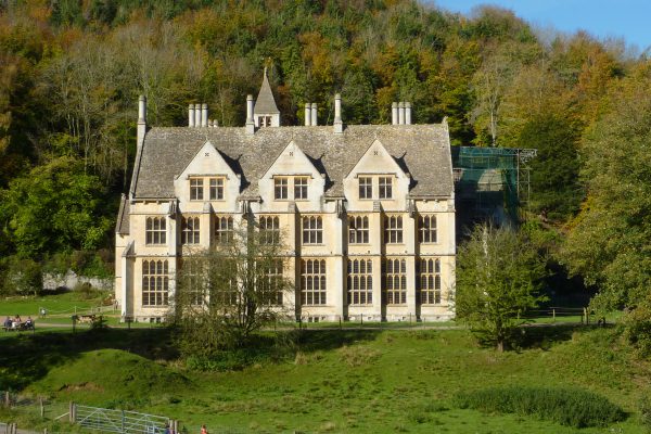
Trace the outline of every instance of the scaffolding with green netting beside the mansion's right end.
{"label": "scaffolding with green netting beside the mansion's right end", "polygon": [[459,224],[520,221],[531,197],[529,162],[536,150],[452,146],[451,151]]}

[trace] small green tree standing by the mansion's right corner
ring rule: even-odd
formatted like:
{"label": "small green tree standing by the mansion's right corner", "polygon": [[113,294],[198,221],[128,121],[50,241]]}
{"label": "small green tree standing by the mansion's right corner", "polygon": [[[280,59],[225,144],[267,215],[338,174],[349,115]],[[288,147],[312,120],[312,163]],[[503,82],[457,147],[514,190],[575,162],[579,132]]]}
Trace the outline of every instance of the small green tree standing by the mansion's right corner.
{"label": "small green tree standing by the mansion's right corner", "polygon": [[457,316],[502,352],[538,295],[544,260],[522,232],[476,226],[457,255]]}

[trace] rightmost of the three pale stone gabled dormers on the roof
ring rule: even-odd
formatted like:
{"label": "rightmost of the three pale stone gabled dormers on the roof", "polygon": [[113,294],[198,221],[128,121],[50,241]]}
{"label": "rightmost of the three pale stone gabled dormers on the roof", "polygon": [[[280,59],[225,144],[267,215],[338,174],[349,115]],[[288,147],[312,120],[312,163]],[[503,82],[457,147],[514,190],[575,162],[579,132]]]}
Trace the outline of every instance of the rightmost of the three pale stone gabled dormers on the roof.
{"label": "rightmost of the three pale stone gabled dormers on the roof", "polygon": [[348,202],[357,206],[381,201],[385,206],[401,208],[409,182],[409,175],[375,139],[344,179],[344,191]]}

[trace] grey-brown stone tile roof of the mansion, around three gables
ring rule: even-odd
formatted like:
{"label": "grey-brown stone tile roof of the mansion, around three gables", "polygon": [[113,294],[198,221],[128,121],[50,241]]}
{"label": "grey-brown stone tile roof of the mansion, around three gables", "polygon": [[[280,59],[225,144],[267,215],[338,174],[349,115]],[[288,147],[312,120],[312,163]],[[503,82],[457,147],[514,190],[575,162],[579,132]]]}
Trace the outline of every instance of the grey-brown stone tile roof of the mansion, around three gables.
{"label": "grey-brown stone tile roof of the mansion, around three gables", "polygon": [[452,194],[447,126],[352,125],[340,135],[332,126],[261,128],[254,135],[237,127],[152,128],[133,168],[133,197],[174,197],[175,176],[208,140],[240,174],[241,197],[257,196],[258,180],[292,140],[326,177],[326,196],[342,197],[344,178],[375,139],[411,175],[412,197]]}

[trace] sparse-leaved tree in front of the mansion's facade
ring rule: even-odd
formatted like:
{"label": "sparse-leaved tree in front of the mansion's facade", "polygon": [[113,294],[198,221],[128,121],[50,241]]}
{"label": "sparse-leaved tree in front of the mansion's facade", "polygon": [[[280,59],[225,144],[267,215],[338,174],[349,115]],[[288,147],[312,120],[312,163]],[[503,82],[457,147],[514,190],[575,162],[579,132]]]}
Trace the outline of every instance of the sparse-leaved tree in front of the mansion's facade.
{"label": "sparse-leaved tree in front of the mansion's facade", "polygon": [[221,241],[194,252],[177,273],[171,322],[188,356],[244,347],[253,333],[286,316],[282,297],[292,283],[283,275],[279,233],[250,221]]}

